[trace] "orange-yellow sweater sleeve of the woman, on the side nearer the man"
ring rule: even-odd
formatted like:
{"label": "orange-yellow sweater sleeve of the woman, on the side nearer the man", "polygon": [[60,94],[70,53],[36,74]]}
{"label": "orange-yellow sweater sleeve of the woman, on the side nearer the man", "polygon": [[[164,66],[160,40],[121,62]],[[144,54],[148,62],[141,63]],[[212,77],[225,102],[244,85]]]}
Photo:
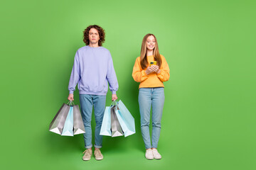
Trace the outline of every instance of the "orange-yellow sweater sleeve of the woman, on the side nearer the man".
{"label": "orange-yellow sweater sleeve of the woman, on the side nearer the man", "polygon": [[145,70],[141,69],[140,67],[139,57],[137,57],[135,61],[134,68],[132,70],[132,77],[134,78],[134,81],[137,82],[142,82],[148,78]]}

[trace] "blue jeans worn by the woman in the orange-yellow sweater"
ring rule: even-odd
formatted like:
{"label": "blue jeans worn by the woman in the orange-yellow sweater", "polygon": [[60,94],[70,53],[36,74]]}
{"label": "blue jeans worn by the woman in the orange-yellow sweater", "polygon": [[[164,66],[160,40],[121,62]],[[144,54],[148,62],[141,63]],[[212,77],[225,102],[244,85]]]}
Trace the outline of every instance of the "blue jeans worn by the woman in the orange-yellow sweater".
{"label": "blue jeans worn by the woman in the orange-yellow sweater", "polygon": [[[149,123],[152,106],[152,135],[150,140]],[[161,117],[164,108],[164,88],[139,89],[139,113],[141,115],[142,137],[146,149],[157,148],[161,131]],[[152,145],[151,145],[152,141]]]}

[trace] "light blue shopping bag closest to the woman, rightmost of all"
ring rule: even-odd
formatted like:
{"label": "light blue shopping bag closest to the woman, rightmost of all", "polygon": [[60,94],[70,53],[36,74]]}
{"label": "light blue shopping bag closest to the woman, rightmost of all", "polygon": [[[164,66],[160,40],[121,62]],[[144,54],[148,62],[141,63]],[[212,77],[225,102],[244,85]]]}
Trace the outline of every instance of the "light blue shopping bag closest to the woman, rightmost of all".
{"label": "light blue shopping bag closest to the woman, rightmost of all", "polygon": [[122,103],[121,100],[117,102],[116,115],[121,125],[122,131],[124,132],[124,137],[134,134],[134,118],[132,117],[131,113],[129,113],[128,109],[124,106],[124,103]]}

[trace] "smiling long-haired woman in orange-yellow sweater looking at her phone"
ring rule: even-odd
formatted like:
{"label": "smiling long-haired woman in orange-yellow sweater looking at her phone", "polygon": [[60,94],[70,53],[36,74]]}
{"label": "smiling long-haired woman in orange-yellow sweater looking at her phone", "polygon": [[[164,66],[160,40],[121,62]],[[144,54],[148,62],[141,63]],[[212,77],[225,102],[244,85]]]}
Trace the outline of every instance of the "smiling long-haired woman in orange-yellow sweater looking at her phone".
{"label": "smiling long-haired woman in orange-yellow sweater looking at her phone", "polygon": [[[161,159],[157,151],[164,108],[164,84],[169,80],[169,66],[160,55],[155,35],[146,34],[142,40],[140,57],[137,57],[132,77],[139,82],[139,113],[141,130],[146,147],[146,159]],[[150,111],[152,107],[152,134],[149,135]]]}

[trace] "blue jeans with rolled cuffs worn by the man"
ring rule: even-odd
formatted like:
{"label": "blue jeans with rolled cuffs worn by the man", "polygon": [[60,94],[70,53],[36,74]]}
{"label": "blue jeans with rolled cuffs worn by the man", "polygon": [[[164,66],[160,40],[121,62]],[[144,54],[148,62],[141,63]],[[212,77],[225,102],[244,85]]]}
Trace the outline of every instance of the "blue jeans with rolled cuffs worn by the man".
{"label": "blue jeans with rolled cuffs worn by the man", "polygon": [[82,121],[85,125],[85,133],[83,134],[85,140],[85,148],[92,147],[92,106],[95,111],[95,147],[102,147],[102,135],[100,135],[100,128],[105,112],[106,96],[80,94],[80,106],[82,113]]}

